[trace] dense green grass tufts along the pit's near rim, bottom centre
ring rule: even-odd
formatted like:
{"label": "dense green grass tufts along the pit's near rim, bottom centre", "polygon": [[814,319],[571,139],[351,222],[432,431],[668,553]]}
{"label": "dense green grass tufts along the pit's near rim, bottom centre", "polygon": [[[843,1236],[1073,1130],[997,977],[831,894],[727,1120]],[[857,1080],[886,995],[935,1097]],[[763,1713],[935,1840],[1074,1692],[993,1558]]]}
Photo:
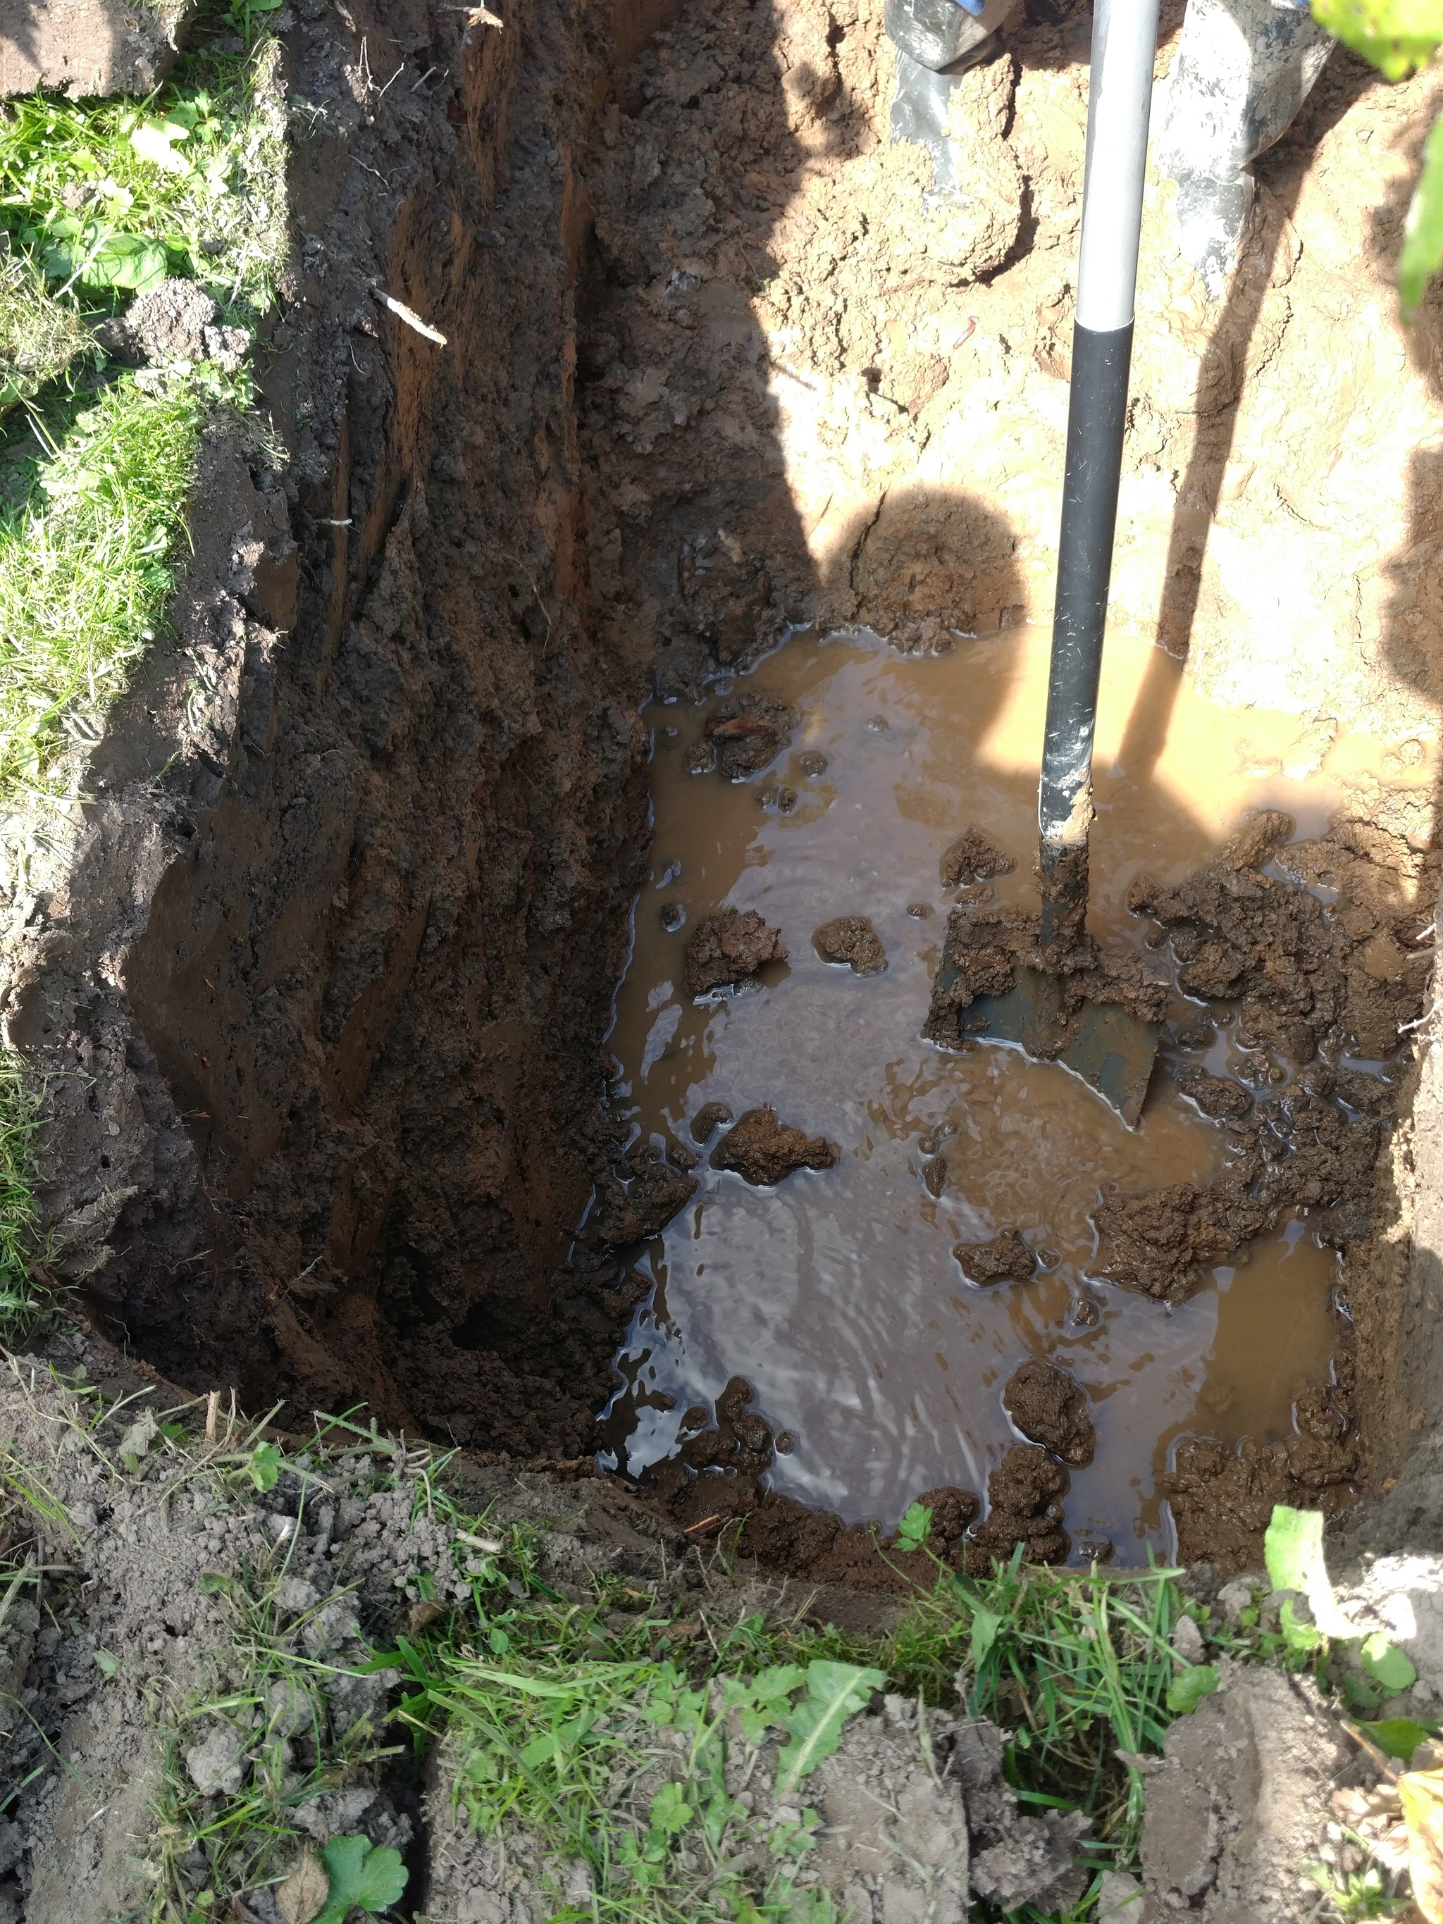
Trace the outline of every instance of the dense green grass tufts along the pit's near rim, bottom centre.
{"label": "dense green grass tufts along the pit's near rim, bottom centre", "polygon": [[[822,1893],[795,1882],[814,1818],[773,1839],[766,1874],[727,1874],[756,1837],[725,1795],[720,1705],[750,1707],[760,1730],[768,1710],[773,1724],[797,1710],[818,1664],[885,1676],[902,1695],[1002,1724],[1022,1810],[1081,1809],[1097,1872],[1135,1866],[1143,1778],[1116,1751],[1158,1751],[1172,1722],[1166,1697],[1183,1668],[1168,1645],[1181,1610],[1172,1576],[939,1572],[885,1639],[762,1616],[677,1624],[654,1593],[623,1583],[600,1583],[581,1607],[533,1578],[523,1599],[477,1587],[475,1626],[452,1620],[392,1653],[410,1684],[398,1714],[418,1741],[444,1743],[471,1826],[531,1839],[539,1861],[587,1864],[596,1918],[822,1924]],[[635,1612],[629,1628],[618,1605]],[[685,1770],[668,1807],[629,1803],[675,1764],[677,1741]],[[558,1891],[556,1916],[571,1914]]]}

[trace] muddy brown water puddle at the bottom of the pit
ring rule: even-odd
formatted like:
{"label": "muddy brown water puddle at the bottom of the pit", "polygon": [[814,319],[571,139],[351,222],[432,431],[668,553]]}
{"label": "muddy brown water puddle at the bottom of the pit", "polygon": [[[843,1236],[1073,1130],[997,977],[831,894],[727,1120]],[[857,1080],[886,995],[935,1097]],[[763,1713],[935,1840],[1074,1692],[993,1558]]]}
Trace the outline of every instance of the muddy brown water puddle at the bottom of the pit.
{"label": "muddy brown water puddle at the bottom of the pit", "polygon": [[[1156,650],[1126,637],[1110,646],[1091,927],[1104,947],[1143,949],[1147,925],[1124,908],[1133,877],[1185,877],[1256,806],[1320,833],[1378,750],[1349,737],[1314,766],[1295,716],[1212,706]],[[652,1289],[618,1356],[625,1389],[608,1428],[633,1474],[671,1453],[689,1406],[745,1376],[783,1433],[772,1483],[891,1526],[931,1485],[985,1489],[1018,1441],[1002,1385],[1027,1356],[1047,1356],[1085,1387],[1099,1433],[1093,1464],[1072,1476],[1074,1545],[1106,1537],[1131,1562],[1149,1545],[1170,1553],[1158,1478],[1179,1437],[1285,1437],[1295,1395],[1326,1381],[1339,1256],[1304,1216],[1177,1308],[1089,1274],[1102,1185],[1202,1183],[1220,1166],[1218,1126],[1177,1089],[1199,1054],[1164,1041],[1129,1131],[1060,1066],[922,1041],[954,899],[939,881],[943,848],[981,827],[1018,858],[999,897],[1035,893],[1045,679],[1035,627],[958,639],[941,656],[902,656],[866,631],[795,635],[739,685],[789,700],[802,725],[770,770],[739,783],[691,773],[704,706],[650,710],[656,839],[610,1043],[620,1099],[641,1137],[685,1147],[704,1102],[733,1116],[773,1102],[843,1156],[775,1189],[702,1162],[693,1204],[637,1254]],[[825,770],[808,773],[818,754]],[[795,789],[787,812],[777,785]],[[722,904],[766,916],[789,962],[754,989],[691,1000],[683,949]],[[685,922],[668,925],[677,908]],[[885,974],[858,977],[816,954],[812,931],[843,914],[872,918]],[[1168,966],[1166,950],[1151,954]],[[1183,1027],[1189,1006],[1176,995]],[[1249,1083],[1281,1074],[1237,1047],[1226,1012],[1206,1066]],[[939,1145],[949,1179],[933,1199],[922,1168]],[[1002,1226],[1022,1231],[1039,1270],[975,1287],[952,1245]]]}

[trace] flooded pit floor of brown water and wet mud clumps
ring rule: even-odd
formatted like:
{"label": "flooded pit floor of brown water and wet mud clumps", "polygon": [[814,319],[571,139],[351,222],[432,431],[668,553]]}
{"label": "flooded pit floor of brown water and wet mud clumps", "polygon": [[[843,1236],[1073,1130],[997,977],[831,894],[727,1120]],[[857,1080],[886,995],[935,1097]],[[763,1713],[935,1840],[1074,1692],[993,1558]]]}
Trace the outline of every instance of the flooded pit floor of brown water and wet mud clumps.
{"label": "flooded pit floor of brown water and wet mud clumps", "polygon": [[[924,1491],[956,1493],[933,1547],[974,1568],[1018,1541],[1237,1568],[1276,1501],[1335,1512],[1358,1491],[1339,1264],[1422,1010],[1431,858],[1380,837],[1360,854],[1329,766],[1251,773],[1256,710],[1183,704],[1139,789],[1116,745],[1149,664],[1120,648],[1070,958],[1079,999],[1104,983],[1162,1024],[1126,1127],[1062,1064],[939,1022],[949,958],[974,981],[993,966],[991,993],[1035,960],[1045,652],[1031,629],[929,654],[795,635],[745,677],[793,710],[789,743],[722,789],[693,743],[735,695],[650,710],[654,879],[614,1104],[658,1158],[714,1147],[627,1258],[646,1295],[602,1433],[683,1528],[739,1528],[743,1555],[818,1580],[897,1582],[906,1557],[864,1578],[862,1553]],[[1341,770],[1366,752],[1345,743]],[[750,914],[789,966],[689,993],[673,906],[698,927]],[[852,925],[885,972],[839,966]],[[977,927],[1002,931],[991,962]],[[723,1112],[741,1122],[720,1133]],[[735,1380],[745,1460],[710,1414]]]}

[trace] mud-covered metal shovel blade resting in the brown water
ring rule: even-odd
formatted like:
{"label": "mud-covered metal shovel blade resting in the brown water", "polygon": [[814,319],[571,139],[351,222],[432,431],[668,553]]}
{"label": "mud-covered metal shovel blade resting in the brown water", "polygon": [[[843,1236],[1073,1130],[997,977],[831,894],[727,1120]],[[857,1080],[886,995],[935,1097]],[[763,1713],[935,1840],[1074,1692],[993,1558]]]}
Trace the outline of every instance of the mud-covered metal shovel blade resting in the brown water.
{"label": "mud-covered metal shovel blade resting in the brown water", "polygon": [[1068,1024],[1058,979],[1018,964],[1014,985],[1004,995],[979,995],[962,1027],[977,1041],[1018,1043],[1029,1056],[1064,1062],[1129,1129],[1137,1126],[1158,1052],[1158,1022],[1143,1022],[1118,1002],[1089,1002]]}

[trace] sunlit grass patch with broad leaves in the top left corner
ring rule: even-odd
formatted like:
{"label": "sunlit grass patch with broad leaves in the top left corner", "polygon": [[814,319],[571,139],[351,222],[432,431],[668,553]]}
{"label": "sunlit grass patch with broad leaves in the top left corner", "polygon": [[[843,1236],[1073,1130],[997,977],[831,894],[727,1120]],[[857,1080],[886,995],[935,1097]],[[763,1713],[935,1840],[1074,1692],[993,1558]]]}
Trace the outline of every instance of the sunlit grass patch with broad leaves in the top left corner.
{"label": "sunlit grass patch with broad leaves in the top left corner", "polygon": [[148,100],[0,108],[0,223],[62,291],[114,308],[167,275],[262,314],[285,258],[279,46],[189,54]]}

